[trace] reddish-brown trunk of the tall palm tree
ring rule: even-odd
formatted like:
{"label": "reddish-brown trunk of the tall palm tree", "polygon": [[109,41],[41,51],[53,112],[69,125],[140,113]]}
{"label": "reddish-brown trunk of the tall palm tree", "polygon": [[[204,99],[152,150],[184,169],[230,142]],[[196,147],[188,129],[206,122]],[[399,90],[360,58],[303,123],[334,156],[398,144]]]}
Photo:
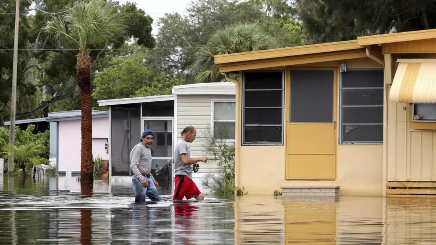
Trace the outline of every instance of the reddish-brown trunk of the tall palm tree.
{"label": "reddish-brown trunk of the tall palm tree", "polygon": [[82,151],[80,181],[92,182],[92,103],[91,103],[91,57],[84,52],[77,55],[77,84],[81,91]]}

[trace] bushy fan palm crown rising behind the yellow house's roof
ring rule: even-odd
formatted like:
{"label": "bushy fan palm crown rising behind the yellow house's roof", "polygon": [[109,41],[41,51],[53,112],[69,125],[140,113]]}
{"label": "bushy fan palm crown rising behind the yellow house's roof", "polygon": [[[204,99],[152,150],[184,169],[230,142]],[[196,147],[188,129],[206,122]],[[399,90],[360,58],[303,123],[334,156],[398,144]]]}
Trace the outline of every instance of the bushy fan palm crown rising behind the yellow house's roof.
{"label": "bushy fan palm crown rising behind the yellow house's roof", "polygon": [[224,79],[213,63],[215,55],[271,49],[276,44],[273,37],[257,24],[239,24],[213,34],[207,45],[197,53],[195,63],[196,83],[217,82]]}

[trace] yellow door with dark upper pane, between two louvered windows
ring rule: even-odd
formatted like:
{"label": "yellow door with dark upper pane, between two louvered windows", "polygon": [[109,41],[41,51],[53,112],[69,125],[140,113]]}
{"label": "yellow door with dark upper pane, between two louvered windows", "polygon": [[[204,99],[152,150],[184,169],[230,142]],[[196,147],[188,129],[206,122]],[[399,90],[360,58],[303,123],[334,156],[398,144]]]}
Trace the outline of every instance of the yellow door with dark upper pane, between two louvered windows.
{"label": "yellow door with dark upper pane, between two louvered windows", "polygon": [[336,69],[288,76],[286,179],[335,179]]}

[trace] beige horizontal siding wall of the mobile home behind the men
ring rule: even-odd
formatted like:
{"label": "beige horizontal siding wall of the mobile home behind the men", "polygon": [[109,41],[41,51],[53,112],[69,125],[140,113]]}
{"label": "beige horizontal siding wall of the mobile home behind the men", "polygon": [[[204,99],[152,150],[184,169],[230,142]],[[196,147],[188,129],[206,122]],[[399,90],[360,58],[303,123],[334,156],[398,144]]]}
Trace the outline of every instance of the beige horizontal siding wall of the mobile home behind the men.
{"label": "beige horizontal siding wall of the mobile home behind the men", "polygon": [[[177,141],[184,127],[192,125],[197,129],[196,139],[190,143],[193,158],[206,155],[203,145],[207,142],[207,130],[210,129],[212,100],[235,100],[235,95],[177,95]],[[211,155],[208,157],[213,159]],[[217,166],[214,161],[200,163],[199,173],[216,171]]]}

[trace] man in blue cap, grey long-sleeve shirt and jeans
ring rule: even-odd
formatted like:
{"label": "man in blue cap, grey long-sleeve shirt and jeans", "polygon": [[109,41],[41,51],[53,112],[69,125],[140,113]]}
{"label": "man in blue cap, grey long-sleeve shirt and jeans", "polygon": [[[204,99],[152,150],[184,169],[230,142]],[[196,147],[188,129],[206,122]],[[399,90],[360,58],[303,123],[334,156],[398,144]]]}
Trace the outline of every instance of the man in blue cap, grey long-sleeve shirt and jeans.
{"label": "man in blue cap, grey long-sleeve shirt and jeans", "polygon": [[151,150],[153,144],[153,131],[145,129],[142,132],[141,142],[135,145],[130,152],[130,169],[132,169],[132,185],[135,190],[135,202],[144,202],[145,195],[152,201],[159,201],[159,187],[157,181],[150,174]]}

